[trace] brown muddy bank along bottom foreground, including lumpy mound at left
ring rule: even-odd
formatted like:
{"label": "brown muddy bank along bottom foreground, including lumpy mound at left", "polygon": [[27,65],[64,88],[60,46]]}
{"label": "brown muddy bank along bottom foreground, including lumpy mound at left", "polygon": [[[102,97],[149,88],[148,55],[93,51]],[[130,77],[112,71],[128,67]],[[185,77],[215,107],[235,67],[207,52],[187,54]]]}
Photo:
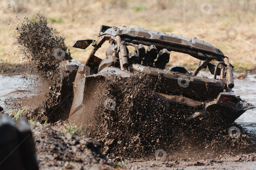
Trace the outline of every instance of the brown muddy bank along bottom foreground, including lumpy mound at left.
{"label": "brown muddy bank along bottom foreground, including lumpy mound at left", "polygon": [[[155,155],[140,160],[131,160],[129,157],[108,159],[107,156],[101,153],[100,150],[103,148],[100,143],[94,142],[90,138],[83,139],[73,134],[65,134],[61,128],[63,128],[63,124],[60,121],[51,126],[49,124],[39,125],[34,130],[33,137],[40,169],[112,169],[113,167],[126,169],[255,168],[255,153],[236,154],[232,151],[222,150],[222,148],[221,153],[208,159],[202,155],[196,157],[195,154],[198,154],[199,151],[195,150],[187,153],[186,156],[180,153],[179,157],[177,153],[159,155],[159,157],[164,156],[161,160],[156,160]],[[239,142],[245,137],[244,133],[247,132],[243,131],[242,133],[243,135],[238,139]],[[250,138],[253,139],[252,136]],[[254,143],[255,141],[254,137]],[[207,153],[204,152],[204,154]]]}

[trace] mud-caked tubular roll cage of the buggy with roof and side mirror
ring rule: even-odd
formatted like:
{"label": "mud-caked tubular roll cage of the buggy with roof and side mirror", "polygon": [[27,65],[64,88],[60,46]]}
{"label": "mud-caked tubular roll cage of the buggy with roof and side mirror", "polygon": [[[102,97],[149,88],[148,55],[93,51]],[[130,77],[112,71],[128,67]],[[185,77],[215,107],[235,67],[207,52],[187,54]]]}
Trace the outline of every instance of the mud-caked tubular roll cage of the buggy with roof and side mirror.
{"label": "mud-caked tubular roll cage of the buggy with roof and side mirror", "polygon": [[[113,56],[119,58],[121,70],[128,70],[128,59],[125,54],[126,46],[131,45],[135,49],[136,45],[143,44],[146,46],[154,45],[158,51],[166,48],[168,51],[175,51],[184,54],[189,54],[192,57],[199,59],[199,64],[194,70],[193,75],[197,76],[202,68],[208,66],[211,74],[219,75],[221,80],[226,82],[228,88],[234,87],[233,65],[229,63],[228,57],[224,56],[222,51],[213,45],[197,38],[186,38],[167,34],[157,31],[145,30],[140,27],[109,27],[101,25],[100,34],[97,40],[78,40],[73,44],[76,48],[87,48],[92,44],[93,49],[85,62],[85,65],[96,70],[102,59],[96,57],[95,52],[101,47],[105,41],[114,44]],[[139,56],[139,50],[137,55]],[[217,65],[213,65],[210,61],[219,61]],[[221,65],[221,67],[218,67]]]}

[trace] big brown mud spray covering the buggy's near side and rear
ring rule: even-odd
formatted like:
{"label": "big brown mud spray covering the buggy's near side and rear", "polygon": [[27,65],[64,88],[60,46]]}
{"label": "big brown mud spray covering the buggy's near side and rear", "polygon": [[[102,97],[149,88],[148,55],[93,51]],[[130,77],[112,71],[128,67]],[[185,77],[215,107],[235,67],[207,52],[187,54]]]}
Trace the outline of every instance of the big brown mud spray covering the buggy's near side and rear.
{"label": "big brown mud spray covering the buggy's near side and rear", "polygon": [[[109,158],[155,159],[159,149],[167,153],[169,160],[212,159],[230,152],[255,151],[255,139],[244,131],[233,138],[228,133],[230,127],[214,113],[192,122],[180,121],[188,115],[175,112],[175,105],[155,95],[143,76],[106,75],[86,82],[85,86],[90,97],[83,103],[84,114],[95,121],[90,122],[94,126],[87,128],[83,136],[102,143],[102,152]],[[115,108],[105,107],[107,99],[115,101]],[[82,119],[88,116],[76,118],[78,124],[86,122]]]}

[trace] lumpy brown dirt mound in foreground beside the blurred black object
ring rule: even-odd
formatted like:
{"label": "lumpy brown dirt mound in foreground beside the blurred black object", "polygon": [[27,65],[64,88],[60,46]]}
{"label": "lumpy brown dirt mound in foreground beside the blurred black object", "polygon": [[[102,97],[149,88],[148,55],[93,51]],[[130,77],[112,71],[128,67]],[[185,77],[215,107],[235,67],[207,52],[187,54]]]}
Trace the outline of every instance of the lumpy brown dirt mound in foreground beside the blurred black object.
{"label": "lumpy brown dirt mound in foreground beside the blurred black object", "polygon": [[[81,169],[94,164],[110,165],[93,139],[82,139],[71,133],[53,130],[49,125],[33,134],[40,169],[58,167]],[[97,166],[99,167],[99,165]]]}

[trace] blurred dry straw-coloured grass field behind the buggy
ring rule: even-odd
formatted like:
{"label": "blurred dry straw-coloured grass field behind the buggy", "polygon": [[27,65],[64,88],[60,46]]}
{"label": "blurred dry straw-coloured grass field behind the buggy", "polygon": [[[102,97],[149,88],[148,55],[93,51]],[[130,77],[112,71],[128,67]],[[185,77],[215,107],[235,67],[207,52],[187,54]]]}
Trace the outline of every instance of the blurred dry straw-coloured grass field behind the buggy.
{"label": "blurred dry straw-coloured grass field behind the buggy", "polygon": [[[256,0],[2,0],[0,63],[22,63],[14,34],[24,17],[40,12],[66,38],[71,56],[84,62],[91,48],[72,48],[79,39],[95,39],[101,25],[139,26],[213,44],[229,57],[235,71],[256,68]],[[15,3],[14,5],[12,3]],[[105,2],[105,6],[104,6]],[[107,2],[107,3],[106,3]],[[113,5],[113,6],[112,6]],[[8,9],[10,8],[10,9]],[[25,16],[24,16],[25,15]],[[233,29],[229,29],[233,28]],[[228,30],[228,31],[227,31]],[[233,30],[233,31],[229,31]],[[107,43],[103,47],[107,47]],[[96,55],[105,57],[106,48]],[[198,59],[172,52],[169,66],[195,68]]]}

